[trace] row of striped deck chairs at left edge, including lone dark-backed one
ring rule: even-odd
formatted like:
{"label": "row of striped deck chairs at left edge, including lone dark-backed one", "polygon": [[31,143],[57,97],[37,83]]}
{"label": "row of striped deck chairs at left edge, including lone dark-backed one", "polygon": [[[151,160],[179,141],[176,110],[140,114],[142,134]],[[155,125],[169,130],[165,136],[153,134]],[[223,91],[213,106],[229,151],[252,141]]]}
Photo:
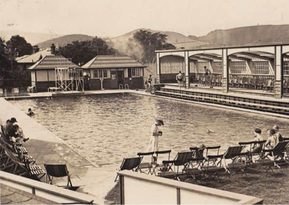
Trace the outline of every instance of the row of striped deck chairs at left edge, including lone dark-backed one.
{"label": "row of striped deck chairs at left edge, including lone dark-backed one", "polygon": [[[1,160],[1,166],[0,170],[10,172],[14,172],[14,174],[17,173],[17,167],[18,165],[23,164],[23,167],[26,169],[26,173],[28,174],[28,177],[35,180],[41,180],[45,175],[46,179],[45,182],[48,184],[52,184],[52,180],[54,177],[66,177],[67,176],[67,185],[66,188],[70,189],[76,189],[78,187],[73,186],[70,180],[70,174],[67,170],[66,164],[44,164],[46,172],[41,168],[40,165],[36,164],[35,159],[33,159],[32,156],[28,155],[27,149],[22,145],[20,142],[16,142],[15,144],[12,144],[9,142],[5,136],[4,128],[1,125],[1,137],[0,137],[0,144],[2,144],[5,148],[6,155],[9,156],[9,158],[12,158],[17,165],[14,169],[7,169],[9,167],[5,167],[5,162],[2,162]],[[5,159],[4,161],[7,161],[9,159]],[[11,163],[10,163],[11,164]],[[22,174],[20,174],[22,175]]]}

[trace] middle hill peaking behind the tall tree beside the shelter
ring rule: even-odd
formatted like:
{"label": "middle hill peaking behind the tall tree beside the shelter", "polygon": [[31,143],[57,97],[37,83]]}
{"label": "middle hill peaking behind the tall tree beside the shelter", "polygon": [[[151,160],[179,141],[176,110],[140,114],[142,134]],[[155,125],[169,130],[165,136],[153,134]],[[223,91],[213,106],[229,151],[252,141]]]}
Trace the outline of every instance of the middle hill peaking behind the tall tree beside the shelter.
{"label": "middle hill peaking behind the tall tree beside the shelter", "polygon": [[184,36],[183,34],[177,33],[177,32],[172,32],[172,31],[158,31],[158,30],[152,30],[152,29],[146,29],[146,28],[140,28],[140,29],[136,29],[133,30],[129,33],[126,33],[122,36],[118,36],[118,37],[114,37],[114,38],[110,38],[109,42],[113,43],[113,44],[123,44],[126,43],[130,38],[133,38],[133,34],[139,30],[146,30],[146,31],[150,31],[152,33],[156,33],[159,32],[161,34],[165,34],[167,35],[167,39],[168,39],[168,43],[172,43],[174,44],[177,48],[181,48],[181,47],[186,47],[186,48],[192,48],[192,47],[199,47],[199,46],[204,46],[207,45],[207,42],[203,42],[203,41],[199,41],[199,40],[192,40],[186,36]]}

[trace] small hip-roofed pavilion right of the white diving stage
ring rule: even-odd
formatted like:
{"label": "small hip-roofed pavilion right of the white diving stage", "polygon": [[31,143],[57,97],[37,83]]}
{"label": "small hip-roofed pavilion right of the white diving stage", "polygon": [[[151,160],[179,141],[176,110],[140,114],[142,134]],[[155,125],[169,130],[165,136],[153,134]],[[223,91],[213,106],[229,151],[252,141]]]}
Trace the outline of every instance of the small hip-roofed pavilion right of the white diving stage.
{"label": "small hip-roofed pavilion right of the white diving stage", "polygon": [[129,88],[144,87],[144,69],[143,65],[129,56],[121,55],[99,55],[84,64],[84,75],[90,77],[90,89],[100,90],[101,80],[104,89],[116,89],[122,84],[129,85]]}

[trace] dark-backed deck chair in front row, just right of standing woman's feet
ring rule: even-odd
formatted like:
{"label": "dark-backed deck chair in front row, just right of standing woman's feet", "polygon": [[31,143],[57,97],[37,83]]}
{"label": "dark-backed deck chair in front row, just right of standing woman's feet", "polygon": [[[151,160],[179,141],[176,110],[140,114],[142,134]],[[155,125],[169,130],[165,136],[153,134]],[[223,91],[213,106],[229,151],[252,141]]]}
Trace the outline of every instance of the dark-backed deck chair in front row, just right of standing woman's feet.
{"label": "dark-backed deck chair in front row, just right of standing woman's feet", "polygon": [[[184,170],[187,168],[189,164],[189,160],[193,158],[194,153],[195,152],[193,151],[178,152],[174,160],[162,161],[167,171],[159,172],[158,176],[180,180],[180,177],[182,177],[183,175],[186,175],[184,173]],[[183,166],[182,171],[179,171],[179,166]],[[177,167],[177,170],[176,170],[176,167]]]}

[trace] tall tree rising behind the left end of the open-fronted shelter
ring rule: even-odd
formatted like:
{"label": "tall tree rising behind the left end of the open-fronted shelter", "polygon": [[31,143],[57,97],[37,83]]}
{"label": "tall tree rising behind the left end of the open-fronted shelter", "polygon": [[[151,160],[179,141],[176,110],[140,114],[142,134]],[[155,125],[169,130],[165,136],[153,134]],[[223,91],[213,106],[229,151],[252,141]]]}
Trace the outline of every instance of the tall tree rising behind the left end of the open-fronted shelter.
{"label": "tall tree rising behind the left end of the open-fronted shelter", "polygon": [[[176,49],[176,47],[167,42],[167,35],[159,32],[152,33],[146,30],[139,30],[133,34],[133,40],[140,43],[143,49],[142,62],[154,62],[156,58],[156,50]],[[134,43],[129,41],[128,47],[133,47]]]}

